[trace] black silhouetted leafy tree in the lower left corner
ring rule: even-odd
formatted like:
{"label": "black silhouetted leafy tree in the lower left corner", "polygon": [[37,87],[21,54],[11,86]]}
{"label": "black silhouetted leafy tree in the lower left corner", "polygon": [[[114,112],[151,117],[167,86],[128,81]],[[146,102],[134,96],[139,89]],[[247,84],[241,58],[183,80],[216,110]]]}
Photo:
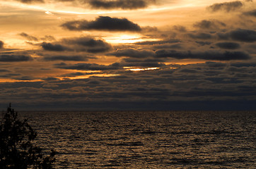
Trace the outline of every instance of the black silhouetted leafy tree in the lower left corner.
{"label": "black silhouetted leafy tree in the lower left corner", "polygon": [[0,125],[0,169],[53,168],[55,152],[45,156],[33,145],[37,134],[27,121],[19,120],[11,104],[8,106]]}

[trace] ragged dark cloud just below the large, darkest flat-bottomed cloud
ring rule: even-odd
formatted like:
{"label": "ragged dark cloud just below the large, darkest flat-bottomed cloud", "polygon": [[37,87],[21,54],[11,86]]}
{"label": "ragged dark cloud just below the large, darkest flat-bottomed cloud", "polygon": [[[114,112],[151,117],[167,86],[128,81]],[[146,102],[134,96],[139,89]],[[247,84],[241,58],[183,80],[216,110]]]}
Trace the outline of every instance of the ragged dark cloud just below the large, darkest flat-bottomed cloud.
{"label": "ragged dark cloud just below the large, darkest flat-bottomed cloud", "polygon": [[101,39],[91,37],[78,37],[73,39],[63,39],[65,44],[73,45],[76,51],[88,51],[90,53],[100,53],[110,51],[112,46]]}

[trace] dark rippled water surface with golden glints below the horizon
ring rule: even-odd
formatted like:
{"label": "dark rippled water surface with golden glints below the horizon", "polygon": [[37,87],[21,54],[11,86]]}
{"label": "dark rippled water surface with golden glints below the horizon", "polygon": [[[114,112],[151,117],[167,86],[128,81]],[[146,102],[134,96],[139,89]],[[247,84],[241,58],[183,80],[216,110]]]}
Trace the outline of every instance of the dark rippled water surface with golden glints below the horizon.
{"label": "dark rippled water surface with golden glints below the horizon", "polygon": [[23,112],[56,168],[256,168],[256,112]]}

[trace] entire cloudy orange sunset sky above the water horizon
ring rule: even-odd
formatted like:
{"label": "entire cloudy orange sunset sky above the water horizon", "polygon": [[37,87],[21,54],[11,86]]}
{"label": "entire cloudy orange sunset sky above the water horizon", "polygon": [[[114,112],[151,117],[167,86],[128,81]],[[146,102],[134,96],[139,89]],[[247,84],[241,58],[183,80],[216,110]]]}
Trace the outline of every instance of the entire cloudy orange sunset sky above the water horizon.
{"label": "entire cloudy orange sunset sky above the water horizon", "polygon": [[0,106],[256,110],[256,2],[0,0]]}

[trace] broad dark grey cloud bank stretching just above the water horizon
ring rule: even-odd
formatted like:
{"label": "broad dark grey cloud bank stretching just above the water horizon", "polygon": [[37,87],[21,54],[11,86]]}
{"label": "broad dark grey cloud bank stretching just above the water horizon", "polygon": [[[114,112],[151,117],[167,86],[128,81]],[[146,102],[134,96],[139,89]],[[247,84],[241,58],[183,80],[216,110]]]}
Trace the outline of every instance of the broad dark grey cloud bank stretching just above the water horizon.
{"label": "broad dark grey cloud bank stretching just above the water horizon", "polygon": [[[72,66],[72,65],[71,65]],[[73,65],[81,70],[115,70],[118,65],[83,64]],[[202,102],[205,108],[209,105],[239,104],[240,108],[253,108],[251,104],[256,96],[255,63],[219,63],[206,62],[189,65],[180,65],[175,69],[168,67],[159,70],[132,73],[120,72],[119,76],[89,77],[78,80],[59,80],[57,77],[45,77],[43,82],[13,82],[1,83],[1,94],[12,96],[16,104],[30,104],[47,107],[54,104],[65,105],[74,108],[85,105],[83,108],[126,109],[123,104],[134,108],[139,103],[139,108],[156,108],[158,104],[170,104],[168,108],[176,108],[180,105],[191,104],[193,108],[202,110]],[[73,73],[72,76],[86,75],[85,73]],[[20,79],[29,79],[21,77]],[[13,95],[15,93],[15,95]],[[33,96],[33,97],[30,97]],[[22,101],[19,101],[22,99]],[[243,102],[241,102],[243,100]],[[1,100],[4,103],[4,99]],[[59,104],[62,103],[62,104]],[[187,103],[187,104],[186,104]],[[244,103],[244,104],[241,104]],[[247,103],[247,104],[246,104]],[[145,104],[147,106],[145,106]],[[91,107],[88,107],[90,105]],[[110,106],[112,105],[112,106]],[[201,105],[201,106],[200,106]],[[207,106],[208,105],[208,106]],[[219,104],[216,104],[219,105]],[[220,108],[220,106],[215,108]],[[66,108],[65,107],[65,108]],[[33,107],[34,108],[34,107]],[[186,106],[183,107],[186,109]],[[173,109],[172,109],[173,110]]]}

